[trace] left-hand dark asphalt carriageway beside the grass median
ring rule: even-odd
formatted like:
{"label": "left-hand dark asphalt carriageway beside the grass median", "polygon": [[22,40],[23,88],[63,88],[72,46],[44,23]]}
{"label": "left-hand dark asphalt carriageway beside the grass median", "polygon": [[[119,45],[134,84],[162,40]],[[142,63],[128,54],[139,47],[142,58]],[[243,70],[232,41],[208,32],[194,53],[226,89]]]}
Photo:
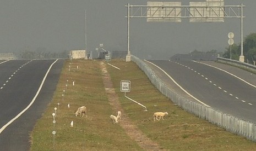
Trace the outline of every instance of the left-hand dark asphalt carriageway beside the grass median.
{"label": "left-hand dark asphalt carriageway beside the grass median", "polygon": [[63,62],[0,62],[0,150],[29,150],[29,133],[52,99]]}

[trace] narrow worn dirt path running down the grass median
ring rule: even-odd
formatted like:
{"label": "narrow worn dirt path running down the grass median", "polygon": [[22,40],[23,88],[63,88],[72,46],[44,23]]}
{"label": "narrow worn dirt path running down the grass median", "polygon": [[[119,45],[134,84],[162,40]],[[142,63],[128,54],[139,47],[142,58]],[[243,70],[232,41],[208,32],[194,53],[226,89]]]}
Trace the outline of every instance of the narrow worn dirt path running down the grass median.
{"label": "narrow worn dirt path running down the grass median", "polygon": [[162,149],[159,144],[153,142],[152,140],[150,140],[150,138],[146,137],[138,129],[138,127],[127,117],[126,113],[121,107],[121,104],[118,101],[118,96],[115,92],[115,89],[113,88],[110,75],[108,74],[106,66],[103,62],[101,62],[101,69],[104,73],[102,78],[105,86],[105,91],[108,96],[108,101],[110,101],[110,104],[114,111],[122,112],[122,119],[118,124],[121,125],[126,131],[127,135],[135,140],[144,150],[165,150]]}

